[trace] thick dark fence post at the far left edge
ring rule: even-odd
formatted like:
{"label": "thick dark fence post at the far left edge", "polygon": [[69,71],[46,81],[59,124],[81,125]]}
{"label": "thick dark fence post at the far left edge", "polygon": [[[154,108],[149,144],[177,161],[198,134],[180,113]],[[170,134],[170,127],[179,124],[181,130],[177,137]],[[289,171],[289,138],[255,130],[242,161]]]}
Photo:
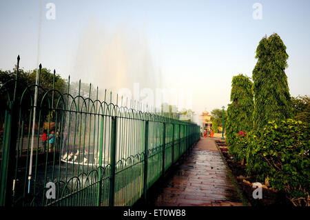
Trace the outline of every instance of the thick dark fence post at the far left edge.
{"label": "thick dark fence post at the far left edge", "polygon": [[3,149],[1,161],[0,206],[12,206],[12,184],[14,179],[14,161],[17,145],[17,106],[14,101],[7,104]]}

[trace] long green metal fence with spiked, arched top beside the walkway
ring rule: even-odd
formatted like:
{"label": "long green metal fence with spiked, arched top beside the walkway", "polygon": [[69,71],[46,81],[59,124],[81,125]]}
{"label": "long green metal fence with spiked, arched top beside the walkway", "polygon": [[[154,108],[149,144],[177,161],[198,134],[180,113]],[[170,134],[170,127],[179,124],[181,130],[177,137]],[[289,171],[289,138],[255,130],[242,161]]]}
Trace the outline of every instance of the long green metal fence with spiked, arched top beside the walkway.
{"label": "long green metal fence with spiked, arched top beside the walkway", "polygon": [[19,57],[1,85],[1,206],[131,206],[200,139],[194,123],[69,91],[70,78],[66,93],[20,85]]}

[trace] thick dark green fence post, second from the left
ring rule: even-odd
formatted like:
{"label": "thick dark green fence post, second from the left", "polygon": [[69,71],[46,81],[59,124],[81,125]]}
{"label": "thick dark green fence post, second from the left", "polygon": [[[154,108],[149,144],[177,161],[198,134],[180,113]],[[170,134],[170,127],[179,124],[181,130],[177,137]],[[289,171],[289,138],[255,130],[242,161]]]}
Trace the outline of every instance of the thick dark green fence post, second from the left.
{"label": "thick dark green fence post, second from the left", "polygon": [[110,174],[110,192],[109,192],[109,206],[114,206],[114,191],[115,191],[115,162],[116,162],[116,117],[112,117],[111,125],[111,174]]}

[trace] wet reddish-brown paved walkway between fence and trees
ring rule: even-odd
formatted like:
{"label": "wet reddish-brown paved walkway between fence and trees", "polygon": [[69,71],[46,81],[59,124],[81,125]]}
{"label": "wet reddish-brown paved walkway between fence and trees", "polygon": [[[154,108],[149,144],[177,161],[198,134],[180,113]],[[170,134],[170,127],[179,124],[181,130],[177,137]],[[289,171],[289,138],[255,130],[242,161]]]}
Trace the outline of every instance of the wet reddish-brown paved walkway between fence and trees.
{"label": "wet reddish-brown paved walkway between fence and trees", "polygon": [[155,206],[242,206],[214,139],[198,142],[165,183]]}

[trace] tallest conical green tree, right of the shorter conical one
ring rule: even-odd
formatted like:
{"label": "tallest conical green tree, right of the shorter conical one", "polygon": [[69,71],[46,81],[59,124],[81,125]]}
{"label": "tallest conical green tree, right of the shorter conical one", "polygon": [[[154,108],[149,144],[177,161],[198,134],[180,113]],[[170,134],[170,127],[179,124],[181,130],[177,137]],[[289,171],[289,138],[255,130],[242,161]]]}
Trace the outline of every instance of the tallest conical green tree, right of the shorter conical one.
{"label": "tallest conical green tree, right of the shorter conical one", "polygon": [[258,59],[253,70],[254,129],[261,129],[268,121],[292,116],[291,97],[287,83],[286,46],[278,34],[264,37],[256,49]]}

